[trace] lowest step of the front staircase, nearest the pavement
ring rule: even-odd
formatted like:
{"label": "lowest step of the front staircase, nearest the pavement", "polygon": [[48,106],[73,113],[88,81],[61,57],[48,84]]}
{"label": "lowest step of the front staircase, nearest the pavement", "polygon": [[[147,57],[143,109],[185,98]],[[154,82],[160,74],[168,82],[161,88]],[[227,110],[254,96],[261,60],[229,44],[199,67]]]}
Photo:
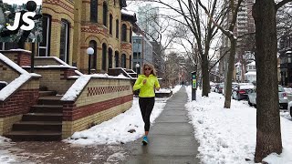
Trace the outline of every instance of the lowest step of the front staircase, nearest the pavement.
{"label": "lowest step of the front staircase, nearest the pavement", "polygon": [[6,138],[13,141],[53,141],[61,140],[62,133],[59,131],[11,131],[5,134]]}

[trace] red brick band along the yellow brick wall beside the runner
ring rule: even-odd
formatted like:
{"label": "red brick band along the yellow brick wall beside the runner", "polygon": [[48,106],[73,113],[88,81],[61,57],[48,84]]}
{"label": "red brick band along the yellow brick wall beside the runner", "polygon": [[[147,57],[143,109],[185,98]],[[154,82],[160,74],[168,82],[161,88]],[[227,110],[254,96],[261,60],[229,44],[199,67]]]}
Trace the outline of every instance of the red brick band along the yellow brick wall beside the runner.
{"label": "red brick band along the yellow brick wall beside the runner", "polygon": [[76,108],[76,104],[74,104],[75,102],[72,102],[71,104],[64,104],[63,121],[74,121],[80,118],[85,118],[103,110],[120,106],[126,102],[131,101],[132,99],[133,95],[128,95],[126,97],[117,97],[99,103],[90,104],[88,106],[82,106],[79,108]]}

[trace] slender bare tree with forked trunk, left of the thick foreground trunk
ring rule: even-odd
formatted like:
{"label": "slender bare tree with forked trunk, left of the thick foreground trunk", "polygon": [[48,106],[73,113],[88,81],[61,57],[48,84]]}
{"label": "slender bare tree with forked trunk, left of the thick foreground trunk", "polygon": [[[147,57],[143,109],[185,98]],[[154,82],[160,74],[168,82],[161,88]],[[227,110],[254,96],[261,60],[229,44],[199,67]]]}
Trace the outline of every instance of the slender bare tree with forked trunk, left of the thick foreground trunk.
{"label": "slender bare tree with forked trunk, left of the thick foreground trunk", "polygon": [[227,28],[228,30],[225,30],[223,26],[218,25],[214,21],[214,17],[213,15],[210,14],[210,11],[202,4],[200,0],[198,2],[203,7],[205,13],[210,17],[210,20],[212,21],[212,23],[215,26],[217,26],[225,36],[228,37],[231,44],[229,60],[228,60],[228,72],[227,72],[227,80],[226,80],[226,85],[225,85],[225,102],[224,102],[224,108],[230,108],[232,77],[233,77],[233,72],[234,72],[234,67],[235,67],[235,53],[236,53],[236,42],[237,42],[237,38],[235,37],[233,31],[235,28],[235,22],[236,22],[239,6],[243,2],[243,0],[238,0],[237,4],[235,3],[235,0],[229,1],[228,8],[230,9],[230,12],[231,12],[231,22],[228,25],[228,28]]}

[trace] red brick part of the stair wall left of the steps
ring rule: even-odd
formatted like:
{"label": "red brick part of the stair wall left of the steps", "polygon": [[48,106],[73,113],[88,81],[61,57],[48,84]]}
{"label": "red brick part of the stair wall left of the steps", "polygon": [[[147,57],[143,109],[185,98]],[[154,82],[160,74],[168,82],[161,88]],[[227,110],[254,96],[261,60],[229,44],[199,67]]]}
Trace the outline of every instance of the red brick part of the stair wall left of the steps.
{"label": "red brick part of the stair wall left of the steps", "polygon": [[0,118],[28,113],[30,107],[37,103],[38,91],[39,89],[20,89],[5,101],[0,101]]}

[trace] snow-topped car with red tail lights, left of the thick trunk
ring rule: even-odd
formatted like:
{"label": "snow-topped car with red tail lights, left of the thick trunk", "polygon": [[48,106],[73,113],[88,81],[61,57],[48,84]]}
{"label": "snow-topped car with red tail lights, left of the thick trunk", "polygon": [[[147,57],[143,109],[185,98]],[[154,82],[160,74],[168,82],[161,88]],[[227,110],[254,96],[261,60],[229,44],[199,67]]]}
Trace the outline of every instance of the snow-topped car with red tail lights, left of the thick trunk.
{"label": "snow-topped car with red tail lights, left of the thick trunk", "polygon": [[237,100],[247,99],[250,90],[255,86],[252,83],[239,83],[237,87],[233,89],[232,97]]}

